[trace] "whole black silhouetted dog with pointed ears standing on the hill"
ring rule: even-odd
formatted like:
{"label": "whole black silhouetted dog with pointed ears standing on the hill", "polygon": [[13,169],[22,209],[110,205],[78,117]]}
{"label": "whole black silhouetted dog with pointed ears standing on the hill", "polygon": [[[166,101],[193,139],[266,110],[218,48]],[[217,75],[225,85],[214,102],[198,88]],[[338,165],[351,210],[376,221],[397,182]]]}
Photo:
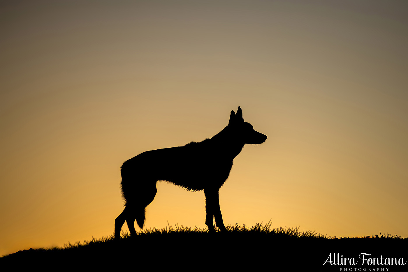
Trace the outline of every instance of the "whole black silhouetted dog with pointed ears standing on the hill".
{"label": "whole black silhouetted dog with pointed ears standing on the hill", "polygon": [[124,222],[131,236],[145,221],[145,208],[157,192],[156,182],[170,181],[187,190],[204,190],[208,232],[227,231],[222,221],[218,191],[229,176],[234,158],[245,144],[262,144],[267,136],[244,122],[242,109],[231,111],[228,126],[211,139],[190,142],[185,146],[150,150],[125,161],[121,167],[123,212],[115,219],[115,239],[120,238]]}

